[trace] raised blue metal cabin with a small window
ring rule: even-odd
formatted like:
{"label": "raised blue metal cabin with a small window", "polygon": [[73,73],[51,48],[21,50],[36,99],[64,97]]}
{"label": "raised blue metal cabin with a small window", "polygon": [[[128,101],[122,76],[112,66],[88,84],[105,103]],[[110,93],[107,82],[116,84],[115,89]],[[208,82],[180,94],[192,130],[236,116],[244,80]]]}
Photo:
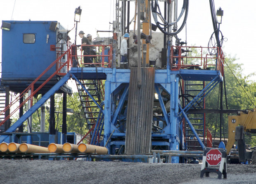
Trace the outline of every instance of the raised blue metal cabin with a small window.
{"label": "raised blue metal cabin with a small window", "polygon": [[[22,92],[56,60],[57,51],[66,51],[66,40],[60,33],[64,28],[57,21],[3,22],[10,23],[11,28],[2,30],[1,85],[9,86],[14,92]],[[51,49],[51,46],[59,49]],[[55,71],[56,64],[37,84],[43,83]],[[55,75],[47,86],[57,81],[58,76]]]}

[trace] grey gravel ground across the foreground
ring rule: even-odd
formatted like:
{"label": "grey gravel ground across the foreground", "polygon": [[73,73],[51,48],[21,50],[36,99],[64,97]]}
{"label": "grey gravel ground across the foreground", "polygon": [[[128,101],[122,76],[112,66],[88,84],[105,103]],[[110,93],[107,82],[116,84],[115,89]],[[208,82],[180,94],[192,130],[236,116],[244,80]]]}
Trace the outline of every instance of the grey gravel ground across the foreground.
{"label": "grey gravel ground across the foreground", "polygon": [[256,165],[228,164],[227,179],[201,164],[0,159],[0,184],[256,184]]}

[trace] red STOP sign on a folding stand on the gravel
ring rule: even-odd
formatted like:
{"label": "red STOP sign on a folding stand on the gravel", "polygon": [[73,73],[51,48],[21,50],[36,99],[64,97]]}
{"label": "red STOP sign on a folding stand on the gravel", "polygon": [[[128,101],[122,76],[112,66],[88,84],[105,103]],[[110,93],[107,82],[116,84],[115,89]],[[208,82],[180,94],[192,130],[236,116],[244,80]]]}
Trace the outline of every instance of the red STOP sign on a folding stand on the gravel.
{"label": "red STOP sign on a folding stand on the gravel", "polygon": [[[220,165],[219,168],[216,167],[218,164]],[[208,167],[208,165],[213,167]],[[221,179],[222,175],[224,179],[227,178],[227,155],[225,149],[204,148],[200,177],[204,177],[204,173],[206,177],[209,177],[209,173],[217,173],[218,179]]]}

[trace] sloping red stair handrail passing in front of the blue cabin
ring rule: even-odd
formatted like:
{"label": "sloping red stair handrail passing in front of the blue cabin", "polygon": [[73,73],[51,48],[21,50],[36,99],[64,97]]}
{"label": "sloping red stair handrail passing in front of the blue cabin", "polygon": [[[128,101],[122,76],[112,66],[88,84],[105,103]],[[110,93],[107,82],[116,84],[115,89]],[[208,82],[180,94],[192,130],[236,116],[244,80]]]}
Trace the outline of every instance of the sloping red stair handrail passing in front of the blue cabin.
{"label": "sloping red stair handrail passing in front of the blue cabin", "polygon": [[[21,104],[19,104],[19,106],[17,108],[15,108],[12,113],[10,113],[7,117],[5,117],[5,119],[0,122],[0,126],[2,124],[4,124],[19,108],[21,108],[21,106],[23,106],[29,99],[33,99],[33,96],[53,77],[55,76],[64,66],[65,64],[68,64],[70,62],[70,57],[69,59],[61,66],[59,67],[47,80],[45,80],[45,82],[43,82],[36,90],[34,90],[34,85],[35,83],[47,72],[49,71],[56,63],[58,60],[60,60],[65,54],[70,55],[70,49],[68,49],[67,51],[65,51],[62,55],[60,55],[54,62],[52,62],[52,64],[50,64],[49,67],[47,67],[47,69],[45,69],[45,71],[42,72],[42,74],[40,74],[23,92],[20,93],[20,95],[14,99],[14,101],[12,103],[10,103],[7,107],[5,107],[4,110],[2,110],[0,112],[0,115],[2,115],[3,113],[5,113],[5,111],[7,111],[9,108],[11,108],[17,101],[19,101],[19,99],[21,99],[22,97],[25,96],[25,94],[31,90],[31,95],[29,95]],[[69,66],[69,64],[68,64]]]}

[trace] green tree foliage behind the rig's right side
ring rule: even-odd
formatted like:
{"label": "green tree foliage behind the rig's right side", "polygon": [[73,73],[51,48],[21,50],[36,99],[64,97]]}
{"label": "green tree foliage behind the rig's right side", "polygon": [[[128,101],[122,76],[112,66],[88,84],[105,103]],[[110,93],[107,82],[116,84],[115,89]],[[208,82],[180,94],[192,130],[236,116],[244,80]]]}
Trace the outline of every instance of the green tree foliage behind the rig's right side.
{"label": "green tree foliage behind the rig's right side", "polygon": [[[194,51],[196,50],[196,51]],[[192,48],[192,55],[200,57],[198,49]],[[236,63],[235,56],[227,55],[224,62],[223,109],[253,109],[256,108],[256,82],[250,80],[255,73],[244,74],[243,64]],[[213,61],[214,62],[214,61]],[[194,82],[197,83],[197,82]],[[206,85],[208,83],[206,82]],[[221,83],[220,83],[221,84]],[[224,85],[225,84],[225,85]],[[225,95],[226,93],[226,95]],[[226,103],[227,101],[227,103]],[[206,109],[220,109],[220,85],[217,85],[205,99]],[[232,114],[236,115],[236,114]],[[206,114],[206,127],[213,137],[220,136],[220,114]],[[228,115],[223,114],[222,138],[228,137]],[[255,136],[247,139],[255,145]]]}

